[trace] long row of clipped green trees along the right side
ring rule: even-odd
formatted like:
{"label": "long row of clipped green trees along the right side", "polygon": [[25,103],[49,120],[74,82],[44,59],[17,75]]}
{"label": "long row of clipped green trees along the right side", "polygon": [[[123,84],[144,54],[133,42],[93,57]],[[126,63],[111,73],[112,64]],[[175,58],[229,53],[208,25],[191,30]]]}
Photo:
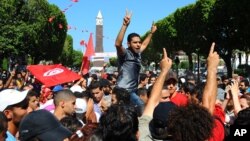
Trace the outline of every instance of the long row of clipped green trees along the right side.
{"label": "long row of clipped green trees along the right side", "polygon": [[[207,56],[211,43],[215,42],[230,77],[233,50],[250,51],[249,17],[249,0],[197,0],[157,21],[158,30],[142,59],[159,62],[163,47],[171,58],[180,49],[189,56],[192,53]],[[189,67],[192,68],[192,58]]]}

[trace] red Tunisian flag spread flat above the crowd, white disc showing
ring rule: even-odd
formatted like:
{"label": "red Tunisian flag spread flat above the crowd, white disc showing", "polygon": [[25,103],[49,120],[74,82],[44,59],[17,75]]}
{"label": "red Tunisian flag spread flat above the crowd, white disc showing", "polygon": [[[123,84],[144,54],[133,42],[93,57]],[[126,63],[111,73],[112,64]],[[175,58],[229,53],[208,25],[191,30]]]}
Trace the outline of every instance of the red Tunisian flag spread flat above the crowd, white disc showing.
{"label": "red Tunisian flag spread flat above the crowd, white disc showing", "polygon": [[58,84],[80,79],[80,75],[65,68],[61,64],[55,65],[29,65],[27,69],[42,82],[45,86],[55,86]]}

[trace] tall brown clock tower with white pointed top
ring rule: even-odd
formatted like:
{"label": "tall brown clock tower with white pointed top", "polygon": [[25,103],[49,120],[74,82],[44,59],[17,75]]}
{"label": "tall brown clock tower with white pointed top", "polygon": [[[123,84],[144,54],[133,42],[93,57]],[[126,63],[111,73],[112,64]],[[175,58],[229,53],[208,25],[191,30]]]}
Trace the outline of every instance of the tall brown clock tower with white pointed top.
{"label": "tall brown clock tower with white pointed top", "polygon": [[[96,46],[95,53],[103,53],[103,18],[101,11],[98,12],[96,17]],[[93,66],[103,67],[104,57],[94,57]]]}

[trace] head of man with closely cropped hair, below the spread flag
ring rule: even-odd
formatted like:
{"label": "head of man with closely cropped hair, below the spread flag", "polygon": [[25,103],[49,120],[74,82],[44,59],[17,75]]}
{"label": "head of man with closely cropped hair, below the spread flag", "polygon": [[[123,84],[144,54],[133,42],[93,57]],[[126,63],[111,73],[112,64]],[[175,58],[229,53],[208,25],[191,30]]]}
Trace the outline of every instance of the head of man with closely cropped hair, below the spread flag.
{"label": "head of man with closely cropped hair, below the spread flag", "polygon": [[61,90],[54,96],[55,109],[61,109],[64,114],[72,115],[76,109],[76,97],[71,90]]}

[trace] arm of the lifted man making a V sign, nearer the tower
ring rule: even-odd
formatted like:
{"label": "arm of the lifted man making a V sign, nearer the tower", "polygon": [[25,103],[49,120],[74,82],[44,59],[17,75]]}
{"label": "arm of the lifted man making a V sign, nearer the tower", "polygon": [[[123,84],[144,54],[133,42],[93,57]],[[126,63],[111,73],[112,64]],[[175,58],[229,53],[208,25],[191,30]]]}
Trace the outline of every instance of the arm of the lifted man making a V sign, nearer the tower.
{"label": "arm of the lifted man making a V sign, nearer the tower", "polygon": [[125,52],[125,49],[122,46],[122,41],[124,39],[125,32],[129,26],[131,16],[132,16],[132,12],[128,12],[128,10],[126,10],[126,15],[123,19],[122,27],[115,40],[115,47],[116,47],[118,54],[123,54]]}

